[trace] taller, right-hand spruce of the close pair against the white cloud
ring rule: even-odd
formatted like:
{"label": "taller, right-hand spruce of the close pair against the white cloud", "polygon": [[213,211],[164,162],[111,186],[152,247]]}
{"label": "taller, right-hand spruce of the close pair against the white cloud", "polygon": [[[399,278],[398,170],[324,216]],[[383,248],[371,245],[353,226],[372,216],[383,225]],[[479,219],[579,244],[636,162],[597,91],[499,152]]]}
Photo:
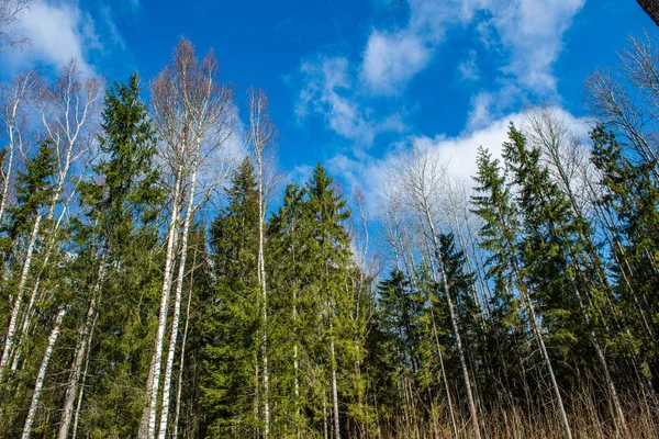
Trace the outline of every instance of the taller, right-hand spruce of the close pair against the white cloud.
{"label": "taller, right-hand spruce of the close pair against the white cloud", "polygon": [[[525,137],[512,124],[509,135],[512,142],[504,145],[504,158],[520,187],[517,198],[524,218],[521,258],[529,282],[541,294],[543,305],[551,311],[552,318],[547,322],[550,330],[572,338],[572,346],[579,342],[581,335],[592,345],[612,401],[613,418],[625,432],[625,415],[595,322],[590,316],[589,303],[597,291],[588,282],[591,267],[582,262],[587,259],[583,257],[587,244],[579,235],[584,227],[582,218],[574,215],[567,196],[550,180],[548,170],[539,165],[539,149],[527,148]],[[573,312],[581,317],[577,325]],[[569,346],[566,349],[570,349]]]}

